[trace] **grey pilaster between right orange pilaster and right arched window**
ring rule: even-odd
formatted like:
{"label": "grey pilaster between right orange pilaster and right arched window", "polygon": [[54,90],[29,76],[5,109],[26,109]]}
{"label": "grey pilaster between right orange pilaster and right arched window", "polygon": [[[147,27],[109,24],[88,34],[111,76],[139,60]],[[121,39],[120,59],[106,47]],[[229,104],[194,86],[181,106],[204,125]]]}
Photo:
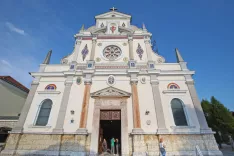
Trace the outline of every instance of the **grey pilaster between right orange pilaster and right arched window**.
{"label": "grey pilaster between right orange pilaster and right arched window", "polygon": [[153,91],[156,120],[158,124],[157,133],[158,134],[168,133],[168,129],[166,128],[166,121],[164,117],[160,91],[159,91],[159,82],[156,75],[151,75],[151,86]]}

